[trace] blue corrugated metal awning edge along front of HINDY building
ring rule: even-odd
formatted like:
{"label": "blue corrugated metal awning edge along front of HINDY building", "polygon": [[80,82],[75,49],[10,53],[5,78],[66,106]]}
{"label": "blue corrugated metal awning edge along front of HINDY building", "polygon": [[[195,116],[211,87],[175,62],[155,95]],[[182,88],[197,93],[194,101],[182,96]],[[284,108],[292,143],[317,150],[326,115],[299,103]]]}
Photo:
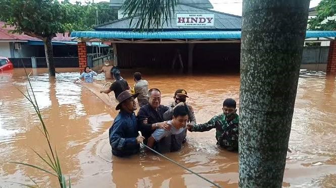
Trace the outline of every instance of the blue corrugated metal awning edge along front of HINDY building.
{"label": "blue corrugated metal awning edge along front of HINDY building", "polygon": [[[75,31],[71,37],[100,39],[241,39],[241,31]],[[336,37],[336,31],[307,31],[306,38]]]}

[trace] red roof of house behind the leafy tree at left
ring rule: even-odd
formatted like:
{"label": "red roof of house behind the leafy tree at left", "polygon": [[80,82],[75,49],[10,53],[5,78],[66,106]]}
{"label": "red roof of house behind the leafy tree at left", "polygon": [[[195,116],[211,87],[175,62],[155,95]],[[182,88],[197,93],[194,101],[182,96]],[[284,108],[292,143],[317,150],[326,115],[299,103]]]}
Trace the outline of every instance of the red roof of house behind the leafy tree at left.
{"label": "red roof of house behind the leafy tree at left", "polygon": [[[4,28],[5,22],[0,21],[0,41],[1,40],[40,40],[36,37],[31,37],[25,34],[12,34],[8,33],[8,31],[13,30],[14,28],[11,26],[7,26]],[[57,33],[57,36],[53,38],[53,41],[71,41],[69,37],[69,32],[66,32],[63,36],[63,33]]]}

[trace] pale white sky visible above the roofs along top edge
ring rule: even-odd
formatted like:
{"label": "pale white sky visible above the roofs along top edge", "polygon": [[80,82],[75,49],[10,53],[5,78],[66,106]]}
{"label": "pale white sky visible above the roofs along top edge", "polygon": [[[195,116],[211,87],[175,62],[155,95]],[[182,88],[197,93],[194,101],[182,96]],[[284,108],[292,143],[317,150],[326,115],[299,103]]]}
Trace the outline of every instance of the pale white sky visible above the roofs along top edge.
{"label": "pale white sky visible above the roofs along top edge", "polygon": [[[80,1],[82,3],[92,2],[92,0],[70,0],[71,3]],[[93,0],[94,3],[110,2],[109,0]],[[243,0],[209,0],[215,11],[242,16]],[[311,0],[309,8],[316,7],[321,0]]]}

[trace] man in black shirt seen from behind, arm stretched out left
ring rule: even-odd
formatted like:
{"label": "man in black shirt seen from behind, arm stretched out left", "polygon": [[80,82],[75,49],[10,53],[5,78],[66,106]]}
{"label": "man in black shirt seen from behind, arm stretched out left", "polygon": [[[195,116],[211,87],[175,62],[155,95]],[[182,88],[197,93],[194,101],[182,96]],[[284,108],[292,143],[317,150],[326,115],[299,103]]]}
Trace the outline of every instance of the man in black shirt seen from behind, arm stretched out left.
{"label": "man in black shirt seen from behind, arm stretched out left", "polygon": [[119,94],[125,90],[130,89],[126,80],[122,79],[120,76],[120,71],[113,72],[114,82],[111,84],[110,88],[107,90],[101,90],[101,93],[109,94],[111,91],[114,91],[114,95],[118,98]]}

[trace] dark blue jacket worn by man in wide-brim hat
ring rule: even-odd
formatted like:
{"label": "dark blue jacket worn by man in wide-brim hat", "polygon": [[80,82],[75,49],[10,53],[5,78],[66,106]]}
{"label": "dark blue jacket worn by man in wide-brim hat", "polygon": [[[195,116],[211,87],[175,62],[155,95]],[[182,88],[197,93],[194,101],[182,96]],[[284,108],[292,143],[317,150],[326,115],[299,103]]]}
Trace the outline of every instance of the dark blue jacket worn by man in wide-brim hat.
{"label": "dark blue jacket worn by man in wide-brim hat", "polygon": [[109,130],[112,154],[119,157],[136,154],[140,149],[136,143],[137,131],[135,114],[120,111]]}

